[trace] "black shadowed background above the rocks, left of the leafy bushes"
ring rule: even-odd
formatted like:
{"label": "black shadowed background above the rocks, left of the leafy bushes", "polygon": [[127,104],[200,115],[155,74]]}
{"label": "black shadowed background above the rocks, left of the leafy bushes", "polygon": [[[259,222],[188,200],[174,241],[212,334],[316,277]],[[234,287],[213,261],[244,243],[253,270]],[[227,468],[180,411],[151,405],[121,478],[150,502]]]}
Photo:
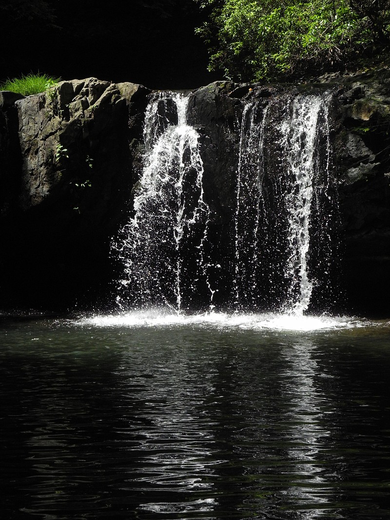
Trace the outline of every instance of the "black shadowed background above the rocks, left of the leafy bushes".
{"label": "black shadowed background above the rocks, left of the leafy bushes", "polygon": [[0,0],[0,81],[41,72],[153,89],[223,79],[207,71],[194,33],[207,17],[193,0]]}

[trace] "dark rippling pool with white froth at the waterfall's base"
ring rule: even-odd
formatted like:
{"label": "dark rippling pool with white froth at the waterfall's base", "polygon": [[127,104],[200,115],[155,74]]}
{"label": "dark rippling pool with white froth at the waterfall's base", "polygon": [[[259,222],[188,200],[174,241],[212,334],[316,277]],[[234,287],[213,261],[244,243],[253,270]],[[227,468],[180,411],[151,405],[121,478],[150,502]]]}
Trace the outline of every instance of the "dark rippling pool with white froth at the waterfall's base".
{"label": "dark rippling pool with white froth at the waterfall's base", "polygon": [[3,320],[1,518],[390,518],[390,323]]}

